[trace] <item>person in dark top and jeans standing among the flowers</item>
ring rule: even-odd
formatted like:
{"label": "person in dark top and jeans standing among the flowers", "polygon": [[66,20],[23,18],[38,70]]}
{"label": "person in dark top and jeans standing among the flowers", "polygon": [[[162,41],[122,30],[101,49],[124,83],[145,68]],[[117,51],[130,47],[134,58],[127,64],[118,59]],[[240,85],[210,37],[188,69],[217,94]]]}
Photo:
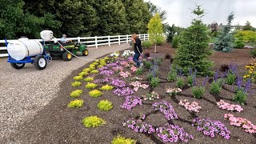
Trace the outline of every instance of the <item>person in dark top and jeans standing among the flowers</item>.
{"label": "person in dark top and jeans standing among the flowers", "polygon": [[138,38],[137,34],[132,34],[131,36],[131,40],[132,42],[134,42],[134,62],[136,62],[137,67],[142,67],[143,63],[139,62],[138,58],[141,56],[142,54],[142,42],[141,40]]}

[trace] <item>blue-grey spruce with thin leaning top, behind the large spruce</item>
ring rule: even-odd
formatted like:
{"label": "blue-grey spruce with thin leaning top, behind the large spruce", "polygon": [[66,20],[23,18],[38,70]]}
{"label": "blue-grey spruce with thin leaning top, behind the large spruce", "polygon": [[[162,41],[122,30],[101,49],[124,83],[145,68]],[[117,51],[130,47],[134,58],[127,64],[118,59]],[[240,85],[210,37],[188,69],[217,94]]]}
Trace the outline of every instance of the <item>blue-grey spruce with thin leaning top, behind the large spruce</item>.
{"label": "blue-grey spruce with thin leaning top, behind the large spruce", "polygon": [[231,23],[233,19],[234,19],[234,14],[231,13],[227,18],[227,21],[228,21],[227,25],[224,26],[222,32],[218,34],[218,39],[214,43],[214,50],[222,51],[222,52],[230,52],[232,50],[233,38],[232,38],[232,35],[230,34],[230,30],[232,28]]}

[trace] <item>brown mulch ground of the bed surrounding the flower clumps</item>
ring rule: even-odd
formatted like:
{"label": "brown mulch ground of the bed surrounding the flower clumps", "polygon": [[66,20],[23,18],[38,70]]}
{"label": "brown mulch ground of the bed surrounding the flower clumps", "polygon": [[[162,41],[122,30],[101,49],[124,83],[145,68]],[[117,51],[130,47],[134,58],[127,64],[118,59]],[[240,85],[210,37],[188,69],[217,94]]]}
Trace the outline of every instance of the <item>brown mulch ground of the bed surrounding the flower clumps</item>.
{"label": "brown mulch ground of the bed surrounding the flower clumps", "polygon": [[[170,45],[158,46],[158,57],[165,56],[165,54],[171,54],[174,56],[175,49],[170,48]],[[144,54],[152,53],[152,49],[144,50]],[[241,68],[246,66],[250,62],[248,56],[249,50],[234,50],[229,54],[214,53],[210,58],[215,62],[215,68],[222,64],[229,65],[237,63]],[[155,56],[156,56],[155,55]],[[232,89],[234,86],[225,85],[225,90],[222,90],[220,96],[213,96],[209,93],[209,85],[207,83],[206,94],[202,99],[196,99],[191,96],[191,89],[186,87],[182,91],[182,94],[176,97],[170,97],[165,94],[166,88],[175,86],[175,83],[166,82],[166,74],[168,72],[168,65],[170,60],[165,59],[159,68],[159,77],[161,78],[160,86],[154,89],[138,90],[134,95],[141,96],[148,93],[150,90],[156,91],[162,98],[154,100],[154,102],[161,102],[166,100],[174,106],[175,112],[178,114],[179,119],[174,120],[174,124],[184,127],[189,133],[194,135],[194,140],[189,143],[254,143],[256,142],[255,135],[248,134],[241,128],[230,126],[228,121],[224,121],[223,115],[229,113],[226,110],[219,110],[216,106],[216,102],[219,99],[224,99],[226,102],[231,102]],[[163,114],[155,113],[150,106],[149,101],[143,101],[142,106],[136,106],[134,109],[128,111],[121,109],[121,105],[124,102],[124,98],[114,96],[112,90],[103,91],[103,95],[100,98],[90,98],[88,91],[85,89],[86,82],[83,82],[82,86],[73,88],[70,83],[73,82],[74,76],[81,72],[82,69],[88,65],[83,66],[80,70],[75,70],[68,78],[66,78],[61,84],[61,90],[58,91],[58,97],[54,98],[49,105],[45,106],[37,115],[34,116],[29,122],[25,122],[19,127],[17,134],[13,135],[13,141],[22,140],[24,143],[110,143],[113,137],[117,134],[122,134],[126,138],[134,138],[138,140],[138,143],[163,143],[156,135],[145,135],[135,133],[133,130],[127,129],[122,126],[122,122],[126,122],[128,118],[136,117],[140,114],[147,114],[146,122],[153,126],[162,126],[168,121]],[[118,74],[115,74],[118,76]],[[146,72],[140,78],[146,78]],[[129,79],[122,78],[126,83],[130,83]],[[204,78],[198,78],[198,82],[202,82]],[[146,82],[146,81],[142,81]],[[67,103],[73,100],[70,98],[70,92],[73,90],[82,89],[84,93],[80,98],[85,102],[84,106],[80,109],[67,108]],[[250,90],[252,92],[252,90]],[[178,106],[180,99],[188,99],[190,102],[199,102],[202,106],[202,110],[198,114],[191,114],[183,107]],[[114,108],[108,112],[102,112],[98,110],[97,104],[100,100],[108,99],[114,104]],[[243,106],[244,111],[241,113],[234,113],[235,116],[247,118],[254,124],[256,123],[256,98],[252,93],[247,98],[246,106]],[[82,125],[82,118],[98,115],[100,118],[106,120],[105,126],[98,128],[86,128]],[[202,133],[198,132],[195,127],[191,126],[191,122],[195,117],[212,118],[223,122],[230,130],[231,138],[226,140],[222,137],[210,138]]]}

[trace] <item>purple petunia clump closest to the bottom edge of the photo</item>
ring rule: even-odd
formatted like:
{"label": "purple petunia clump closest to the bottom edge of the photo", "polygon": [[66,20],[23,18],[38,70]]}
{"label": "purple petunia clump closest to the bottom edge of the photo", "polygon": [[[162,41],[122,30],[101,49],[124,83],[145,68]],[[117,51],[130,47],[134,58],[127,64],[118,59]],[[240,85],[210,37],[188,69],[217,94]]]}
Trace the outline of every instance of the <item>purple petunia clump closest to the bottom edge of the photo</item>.
{"label": "purple petunia clump closest to the bottom edge of the photo", "polygon": [[186,131],[177,125],[166,124],[164,127],[158,127],[156,129],[159,138],[162,138],[163,142],[188,142],[189,139],[193,139],[192,135],[186,133]]}

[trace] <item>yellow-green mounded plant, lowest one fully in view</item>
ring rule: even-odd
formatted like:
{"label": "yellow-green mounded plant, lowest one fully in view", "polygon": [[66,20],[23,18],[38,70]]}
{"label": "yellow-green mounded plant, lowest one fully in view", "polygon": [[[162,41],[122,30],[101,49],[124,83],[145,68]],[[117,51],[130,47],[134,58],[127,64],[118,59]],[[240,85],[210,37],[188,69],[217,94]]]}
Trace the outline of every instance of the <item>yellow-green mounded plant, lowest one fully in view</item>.
{"label": "yellow-green mounded plant, lowest one fully in view", "polygon": [[87,128],[90,127],[98,127],[103,126],[106,124],[106,122],[102,118],[98,118],[95,116],[90,116],[82,119],[82,124],[86,126]]}

